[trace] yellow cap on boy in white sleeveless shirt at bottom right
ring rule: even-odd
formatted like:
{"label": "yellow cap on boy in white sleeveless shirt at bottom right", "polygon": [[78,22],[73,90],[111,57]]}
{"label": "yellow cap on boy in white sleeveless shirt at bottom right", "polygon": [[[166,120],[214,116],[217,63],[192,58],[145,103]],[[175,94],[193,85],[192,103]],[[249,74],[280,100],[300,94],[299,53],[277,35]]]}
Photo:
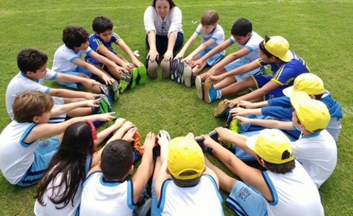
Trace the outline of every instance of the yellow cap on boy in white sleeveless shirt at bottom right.
{"label": "yellow cap on boy in white sleeveless shirt at bottom right", "polygon": [[[259,157],[269,163],[284,164],[294,160],[288,137],[278,129],[264,129],[259,134],[250,136],[246,143]],[[288,158],[282,158],[285,151],[289,153]]]}

